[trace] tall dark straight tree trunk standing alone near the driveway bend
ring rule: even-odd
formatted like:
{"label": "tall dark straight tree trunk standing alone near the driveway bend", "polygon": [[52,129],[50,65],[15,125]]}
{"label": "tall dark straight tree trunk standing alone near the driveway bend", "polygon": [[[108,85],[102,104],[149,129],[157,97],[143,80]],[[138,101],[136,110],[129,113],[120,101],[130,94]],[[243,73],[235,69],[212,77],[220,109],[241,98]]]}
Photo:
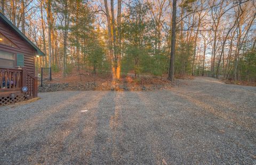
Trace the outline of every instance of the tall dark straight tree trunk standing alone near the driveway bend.
{"label": "tall dark straight tree trunk standing alone near the driveway bend", "polygon": [[176,11],[177,0],[172,3],[172,39],[171,39],[171,58],[168,80],[173,81],[174,78],[174,55],[175,55],[175,32],[176,32]]}

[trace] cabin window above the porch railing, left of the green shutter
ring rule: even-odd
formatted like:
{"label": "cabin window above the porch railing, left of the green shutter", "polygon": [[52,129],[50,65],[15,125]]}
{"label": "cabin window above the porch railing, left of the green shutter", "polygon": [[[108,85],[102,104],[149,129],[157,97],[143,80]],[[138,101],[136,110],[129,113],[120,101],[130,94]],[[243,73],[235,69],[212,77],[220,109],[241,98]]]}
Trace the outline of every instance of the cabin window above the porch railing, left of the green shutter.
{"label": "cabin window above the porch railing, left of the green shutter", "polygon": [[0,51],[0,67],[14,67],[14,54]]}

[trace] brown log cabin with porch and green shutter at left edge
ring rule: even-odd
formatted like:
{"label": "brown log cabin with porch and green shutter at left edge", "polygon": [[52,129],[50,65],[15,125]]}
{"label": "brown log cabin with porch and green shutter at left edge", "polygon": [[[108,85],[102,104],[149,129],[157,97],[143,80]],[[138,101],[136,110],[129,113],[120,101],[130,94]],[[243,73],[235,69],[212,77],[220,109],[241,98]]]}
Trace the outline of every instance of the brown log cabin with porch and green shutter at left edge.
{"label": "brown log cabin with porch and green shutter at left edge", "polygon": [[37,97],[38,56],[45,54],[0,12],[0,106]]}

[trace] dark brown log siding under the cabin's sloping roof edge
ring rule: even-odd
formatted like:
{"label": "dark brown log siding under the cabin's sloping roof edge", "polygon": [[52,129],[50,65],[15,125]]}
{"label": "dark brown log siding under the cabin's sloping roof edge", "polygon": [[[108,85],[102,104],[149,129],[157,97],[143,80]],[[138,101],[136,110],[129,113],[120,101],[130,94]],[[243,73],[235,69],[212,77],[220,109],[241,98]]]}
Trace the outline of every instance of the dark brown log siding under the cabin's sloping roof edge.
{"label": "dark brown log siding under the cabin's sloping roof edge", "polygon": [[5,46],[0,44],[0,50],[10,52],[13,54],[23,54],[24,55],[24,65],[27,67],[27,72],[32,75],[35,75],[35,49],[30,46],[27,41],[23,40],[17,32],[12,30],[9,25],[6,25],[0,19],[0,32],[4,34],[5,37],[10,39],[17,48]]}

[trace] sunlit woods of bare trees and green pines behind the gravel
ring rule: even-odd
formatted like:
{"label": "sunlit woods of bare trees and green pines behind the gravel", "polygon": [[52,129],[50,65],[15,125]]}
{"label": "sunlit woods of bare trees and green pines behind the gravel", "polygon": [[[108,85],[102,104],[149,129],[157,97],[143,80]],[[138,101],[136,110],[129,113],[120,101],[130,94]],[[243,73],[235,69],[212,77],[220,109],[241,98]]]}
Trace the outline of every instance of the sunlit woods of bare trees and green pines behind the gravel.
{"label": "sunlit woods of bare trees and green pines behind the gravel", "polygon": [[174,75],[256,81],[256,1],[174,2],[173,12],[172,0],[1,0],[1,12],[46,54],[36,67],[63,76],[167,76],[175,48]]}

